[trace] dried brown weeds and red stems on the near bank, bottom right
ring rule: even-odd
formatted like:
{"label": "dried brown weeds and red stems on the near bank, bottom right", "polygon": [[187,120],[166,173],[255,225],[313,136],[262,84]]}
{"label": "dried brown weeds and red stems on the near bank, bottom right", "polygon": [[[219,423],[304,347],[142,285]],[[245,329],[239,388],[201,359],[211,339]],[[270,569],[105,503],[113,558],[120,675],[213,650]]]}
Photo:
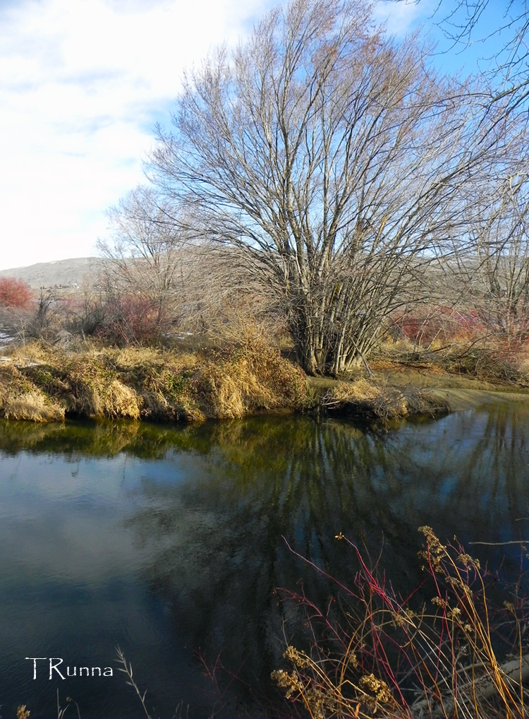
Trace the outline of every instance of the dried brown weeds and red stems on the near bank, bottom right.
{"label": "dried brown weeds and red stems on the near bank, bottom right", "polygon": [[[337,539],[350,544],[360,564],[351,587],[337,582],[343,613],[333,613],[332,603],[321,610],[303,593],[288,595],[306,608],[311,642],[306,651],[288,646],[290,671],[278,669],[272,678],[310,717],[528,715],[527,601],[520,584],[505,593],[503,605],[493,603],[497,577],[462,546],[441,544],[429,527],[420,531],[425,578],[405,600],[342,534]],[[418,590],[431,599],[414,601]]]}

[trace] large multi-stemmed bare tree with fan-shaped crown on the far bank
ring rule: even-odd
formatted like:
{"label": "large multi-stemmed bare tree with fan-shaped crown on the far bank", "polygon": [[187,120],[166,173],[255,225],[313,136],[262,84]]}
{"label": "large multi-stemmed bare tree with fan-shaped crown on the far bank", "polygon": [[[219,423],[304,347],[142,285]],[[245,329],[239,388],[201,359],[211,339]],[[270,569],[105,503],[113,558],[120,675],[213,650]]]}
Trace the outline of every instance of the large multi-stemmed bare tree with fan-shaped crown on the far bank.
{"label": "large multi-stemmed bare tree with fan-shaped crown on the far bank", "polygon": [[152,179],[281,297],[311,374],[362,361],[420,291],[502,132],[479,144],[469,94],[425,56],[363,0],[293,0],[189,73],[158,130]]}

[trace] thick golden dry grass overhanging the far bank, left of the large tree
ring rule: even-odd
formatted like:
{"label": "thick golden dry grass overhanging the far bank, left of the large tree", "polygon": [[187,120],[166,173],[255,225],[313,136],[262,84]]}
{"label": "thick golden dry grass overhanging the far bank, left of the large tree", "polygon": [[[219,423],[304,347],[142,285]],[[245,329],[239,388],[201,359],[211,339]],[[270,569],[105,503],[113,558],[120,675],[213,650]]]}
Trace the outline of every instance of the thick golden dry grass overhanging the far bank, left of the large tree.
{"label": "thick golden dry grass overhanging the far bank, left of the large tree", "polygon": [[306,377],[266,344],[209,354],[35,343],[0,366],[0,416],[200,421],[301,408]]}

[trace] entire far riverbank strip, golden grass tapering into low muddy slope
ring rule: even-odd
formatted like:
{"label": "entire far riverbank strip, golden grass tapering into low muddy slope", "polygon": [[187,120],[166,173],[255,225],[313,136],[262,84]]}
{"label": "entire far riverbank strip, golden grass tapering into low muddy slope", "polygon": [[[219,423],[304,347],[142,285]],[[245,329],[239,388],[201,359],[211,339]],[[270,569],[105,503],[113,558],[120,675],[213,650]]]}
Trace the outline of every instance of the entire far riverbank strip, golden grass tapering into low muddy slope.
{"label": "entire far riverbank strip, golden grass tapering into low muddy slope", "polygon": [[387,362],[364,375],[306,377],[265,344],[199,353],[89,344],[67,351],[34,343],[0,357],[0,417],[193,422],[324,411],[369,421],[529,400],[526,388]]}

